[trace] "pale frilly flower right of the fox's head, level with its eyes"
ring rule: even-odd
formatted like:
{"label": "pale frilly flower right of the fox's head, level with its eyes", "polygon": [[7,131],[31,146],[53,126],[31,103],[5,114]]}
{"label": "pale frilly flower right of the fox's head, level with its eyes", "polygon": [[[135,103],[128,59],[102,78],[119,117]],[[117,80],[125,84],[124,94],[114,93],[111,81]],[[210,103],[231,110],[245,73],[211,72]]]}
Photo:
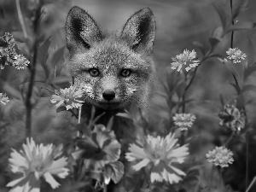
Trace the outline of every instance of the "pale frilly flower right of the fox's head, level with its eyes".
{"label": "pale frilly flower right of the fox's head, level with its eyes", "polygon": [[185,70],[189,72],[189,70],[193,67],[197,67],[200,61],[195,60],[196,52],[193,49],[191,52],[188,49],[183,50],[183,54],[176,55],[176,57],[172,57],[172,69],[176,70],[177,72],[181,72],[183,66],[187,66]]}

